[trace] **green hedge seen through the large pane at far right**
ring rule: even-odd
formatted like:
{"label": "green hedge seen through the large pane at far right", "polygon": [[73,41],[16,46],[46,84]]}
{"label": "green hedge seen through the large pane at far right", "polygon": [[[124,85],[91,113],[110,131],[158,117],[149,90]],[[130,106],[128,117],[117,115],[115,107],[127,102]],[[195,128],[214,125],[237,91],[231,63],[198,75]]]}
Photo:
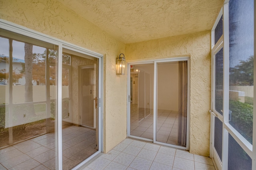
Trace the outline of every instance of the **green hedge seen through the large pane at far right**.
{"label": "green hedge seen through the large pane at far right", "polygon": [[245,139],[252,143],[253,106],[230,100],[229,108],[232,118],[229,122]]}

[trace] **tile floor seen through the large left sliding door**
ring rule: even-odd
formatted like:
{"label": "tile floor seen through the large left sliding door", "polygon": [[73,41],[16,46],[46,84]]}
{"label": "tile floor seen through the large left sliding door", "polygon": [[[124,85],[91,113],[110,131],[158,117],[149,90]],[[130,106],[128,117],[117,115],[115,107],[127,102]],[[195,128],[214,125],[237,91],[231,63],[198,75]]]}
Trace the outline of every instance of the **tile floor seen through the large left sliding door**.
{"label": "tile floor seen through the large left sliding door", "polygon": [[[96,152],[95,130],[74,125],[62,129],[62,167],[69,170]],[[0,150],[0,170],[54,170],[55,134],[47,133]]]}

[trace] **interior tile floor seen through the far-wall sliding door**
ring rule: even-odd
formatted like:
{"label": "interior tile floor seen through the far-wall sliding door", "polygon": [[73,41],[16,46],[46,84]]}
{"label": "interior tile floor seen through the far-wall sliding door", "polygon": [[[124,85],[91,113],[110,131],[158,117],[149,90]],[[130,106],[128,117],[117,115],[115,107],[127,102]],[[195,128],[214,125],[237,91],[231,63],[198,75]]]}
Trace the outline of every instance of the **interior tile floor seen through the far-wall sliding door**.
{"label": "interior tile floor seen through the far-wall sliding door", "polygon": [[[138,108],[132,104],[130,108],[130,135],[153,139],[153,110]],[[178,143],[178,111],[157,111],[156,141],[174,144]]]}

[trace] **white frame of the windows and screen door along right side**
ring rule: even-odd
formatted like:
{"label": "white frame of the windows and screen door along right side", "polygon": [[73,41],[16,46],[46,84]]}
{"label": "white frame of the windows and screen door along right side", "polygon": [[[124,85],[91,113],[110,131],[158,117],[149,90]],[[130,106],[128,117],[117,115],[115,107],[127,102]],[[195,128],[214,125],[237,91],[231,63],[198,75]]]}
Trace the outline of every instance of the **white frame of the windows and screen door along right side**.
{"label": "white frame of the windows and screen door along right side", "polygon": [[[214,149],[214,117],[217,116],[220,121],[222,121],[222,164],[216,162],[219,169],[227,170],[228,169],[228,134],[230,134],[235,141],[242,147],[242,149],[250,156],[252,159],[252,169],[256,169],[256,151],[253,148],[256,148],[256,87],[254,86],[254,108],[253,108],[253,141],[252,144],[249,143],[232,125],[229,124],[229,1],[225,0],[223,8],[221,9],[214,26],[212,28],[212,94],[211,94],[211,134],[210,134],[210,157],[218,155]],[[255,23],[255,8],[256,4],[254,3],[254,30],[256,27]],[[223,35],[220,37],[218,42],[214,43],[214,30],[223,14]],[[255,31],[254,31],[255,32]],[[214,55],[218,52],[220,48],[223,47],[223,116],[214,111],[214,100],[215,100],[215,61]],[[256,56],[256,34],[254,33],[254,56]],[[254,58],[254,73],[256,72],[256,59]],[[256,80],[256,74],[254,74],[254,80]],[[214,157],[215,157],[214,156]],[[215,160],[216,161],[216,160]],[[214,162],[215,162],[214,161]]]}

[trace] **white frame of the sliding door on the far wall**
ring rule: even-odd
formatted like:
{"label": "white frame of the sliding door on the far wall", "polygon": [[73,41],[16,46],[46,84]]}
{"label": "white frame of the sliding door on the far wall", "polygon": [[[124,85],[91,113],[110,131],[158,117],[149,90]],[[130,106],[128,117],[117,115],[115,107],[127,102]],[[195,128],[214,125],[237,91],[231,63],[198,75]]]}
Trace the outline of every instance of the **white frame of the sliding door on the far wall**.
{"label": "white frame of the sliding door on the far wall", "polygon": [[[178,145],[172,145],[168,143],[162,143],[156,141],[156,111],[157,111],[157,63],[165,63],[165,62],[176,62],[176,61],[187,61],[188,62],[188,84],[187,84],[187,89],[188,89],[188,96],[187,96],[187,131],[186,131],[186,147],[180,147]],[[153,92],[153,113],[154,113],[154,120],[153,120],[153,140],[152,139],[146,139],[142,137],[137,137],[130,135],[130,66],[131,65],[136,65],[136,64],[152,64],[154,63],[154,92]],[[165,145],[169,147],[175,147],[178,149],[185,149],[189,150],[189,141],[190,141],[190,57],[189,56],[184,56],[184,57],[175,57],[175,58],[168,58],[168,59],[156,59],[156,60],[148,60],[148,61],[138,61],[138,62],[128,62],[128,74],[127,74],[127,135],[128,137],[133,137],[136,139],[142,139],[144,141],[150,141],[156,144],[160,145]],[[134,98],[134,96],[133,96]]]}

